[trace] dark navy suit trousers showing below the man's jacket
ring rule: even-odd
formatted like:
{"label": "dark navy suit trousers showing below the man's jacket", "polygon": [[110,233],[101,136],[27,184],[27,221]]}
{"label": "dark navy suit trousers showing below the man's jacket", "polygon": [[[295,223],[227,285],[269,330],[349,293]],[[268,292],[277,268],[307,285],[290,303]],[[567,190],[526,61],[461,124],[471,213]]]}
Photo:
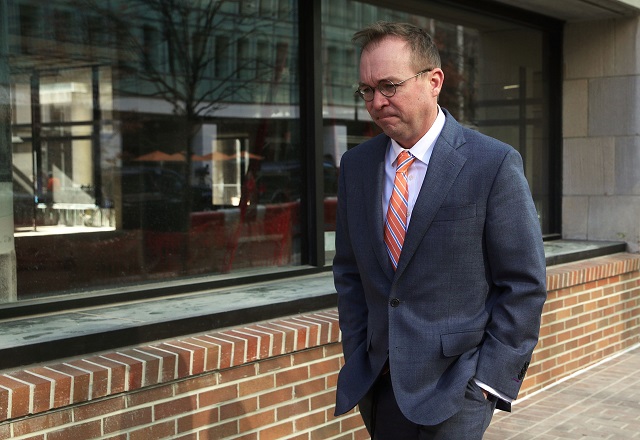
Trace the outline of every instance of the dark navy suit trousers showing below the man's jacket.
{"label": "dark navy suit trousers showing below the man's jacket", "polygon": [[417,425],[400,411],[393,393],[391,374],[380,376],[359,404],[360,414],[372,440],[481,440],[489,427],[496,398],[485,398],[472,379],[462,408],[435,426]]}

